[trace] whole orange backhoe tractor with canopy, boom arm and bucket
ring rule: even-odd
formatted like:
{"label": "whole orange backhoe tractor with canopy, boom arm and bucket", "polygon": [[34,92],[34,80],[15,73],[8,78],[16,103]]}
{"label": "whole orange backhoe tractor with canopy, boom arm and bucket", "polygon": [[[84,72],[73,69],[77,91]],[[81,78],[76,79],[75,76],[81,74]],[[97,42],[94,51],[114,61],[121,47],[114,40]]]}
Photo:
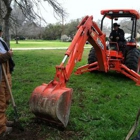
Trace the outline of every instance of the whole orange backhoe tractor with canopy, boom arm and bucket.
{"label": "whole orange backhoe tractor with canopy, boom arm and bucket", "polygon": [[[133,9],[102,10],[101,28],[93,21],[92,16],[86,16],[78,25],[78,30],[70,46],[66,50],[64,59],[56,66],[55,77],[50,83],[36,87],[30,97],[31,111],[38,118],[58,122],[67,126],[70,114],[73,89],[67,88],[75,64],[82,58],[84,45],[88,41],[92,48],[88,55],[88,64],[78,68],[76,74],[84,72],[114,70],[132,79],[140,86],[140,51],[136,42],[136,26],[140,14]],[[118,18],[130,18],[132,24],[131,36],[126,40],[124,51],[118,43],[106,43],[103,33],[103,21],[111,20],[111,28]]]}

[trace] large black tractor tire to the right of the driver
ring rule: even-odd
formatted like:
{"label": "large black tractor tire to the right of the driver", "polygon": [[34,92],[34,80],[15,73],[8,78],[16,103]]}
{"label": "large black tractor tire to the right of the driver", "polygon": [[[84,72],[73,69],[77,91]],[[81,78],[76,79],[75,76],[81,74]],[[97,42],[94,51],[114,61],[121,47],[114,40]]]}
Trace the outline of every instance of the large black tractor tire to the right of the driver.
{"label": "large black tractor tire to the right of the driver", "polygon": [[137,48],[130,49],[125,58],[125,65],[135,72],[140,70],[140,51]]}

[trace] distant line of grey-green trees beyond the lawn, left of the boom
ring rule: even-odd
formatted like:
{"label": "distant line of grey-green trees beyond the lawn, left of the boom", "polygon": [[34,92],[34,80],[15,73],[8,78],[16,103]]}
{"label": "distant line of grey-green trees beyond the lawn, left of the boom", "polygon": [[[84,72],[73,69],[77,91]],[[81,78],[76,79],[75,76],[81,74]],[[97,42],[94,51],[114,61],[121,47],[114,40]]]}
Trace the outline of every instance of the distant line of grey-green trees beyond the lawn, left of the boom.
{"label": "distant line of grey-green trees beyond the lawn, left of the boom", "polygon": [[[11,39],[25,37],[26,39],[63,40],[70,41],[77,31],[81,19],[72,20],[62,25],[61,23],[48,24],[45,27],[33,22],[25,22],[17,29],[11,30]],[[16,31],[16,32],[15,32]]]}

